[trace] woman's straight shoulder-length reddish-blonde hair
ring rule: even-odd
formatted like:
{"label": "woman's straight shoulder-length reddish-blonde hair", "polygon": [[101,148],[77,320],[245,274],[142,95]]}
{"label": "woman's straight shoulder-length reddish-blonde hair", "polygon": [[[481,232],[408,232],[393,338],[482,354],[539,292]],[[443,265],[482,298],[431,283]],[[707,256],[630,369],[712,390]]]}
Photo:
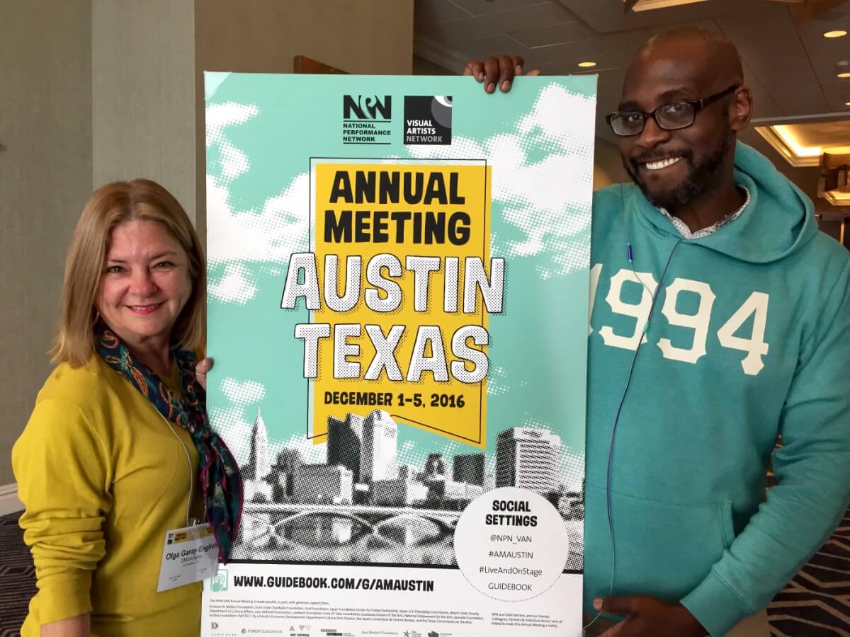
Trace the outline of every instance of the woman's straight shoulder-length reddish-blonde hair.
{"label": "woman's straight shoulder-length reddish-blonde hair", "polygon": [[65,261],[59,329],[50,354],[54,363],[81,367],[94,352],[94,307],[113,228],[128,221],[161,223],[189,256],[192,292],[172,332],[175,346],[202,352],[207,340],[207,268],[195,228],[178,200],[158,183],[133,179],[95,190],[82,215]]}

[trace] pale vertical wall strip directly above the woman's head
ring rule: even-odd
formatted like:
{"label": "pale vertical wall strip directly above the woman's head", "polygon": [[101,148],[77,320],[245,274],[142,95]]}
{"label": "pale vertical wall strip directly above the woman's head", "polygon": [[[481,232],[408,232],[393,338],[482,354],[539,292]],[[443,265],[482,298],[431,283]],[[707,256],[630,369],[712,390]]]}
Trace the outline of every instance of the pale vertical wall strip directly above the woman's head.
{"label": "pale vertical wall strip directly above the woman's head", "polygon": [[144,177],[195,220],[193,0],[91,0],[94,185]]}

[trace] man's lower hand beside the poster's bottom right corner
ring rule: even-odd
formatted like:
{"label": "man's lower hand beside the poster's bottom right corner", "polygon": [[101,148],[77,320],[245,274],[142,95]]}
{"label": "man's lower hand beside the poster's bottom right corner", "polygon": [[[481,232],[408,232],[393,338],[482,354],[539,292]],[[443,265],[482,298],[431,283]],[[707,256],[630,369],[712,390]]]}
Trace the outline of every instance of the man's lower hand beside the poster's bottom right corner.
{"label": "man's lower hand beside the poster's bottom right corner", "polygon": [[604,597],[594,600],[593,607],[609,615],[626,615],[624,621],[601,637],[703,637],[706,634],[706,629],[687,608],[649,595]]}

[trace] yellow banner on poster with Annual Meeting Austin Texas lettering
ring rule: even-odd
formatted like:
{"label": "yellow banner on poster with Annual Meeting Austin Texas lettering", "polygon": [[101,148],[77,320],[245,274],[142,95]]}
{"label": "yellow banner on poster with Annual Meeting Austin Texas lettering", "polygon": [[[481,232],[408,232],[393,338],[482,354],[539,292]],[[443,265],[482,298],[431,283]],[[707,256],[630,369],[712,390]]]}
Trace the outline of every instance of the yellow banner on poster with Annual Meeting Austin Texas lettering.
{"label": "yellow banner on poster with Annual Meeting Austin Texas lettering", "polygon": [[[329,418],[393,420],[484,448],[489,313],[504,260],[490,260],[490,167],[314,165],[314,252],[292,255],[281,307],[313,379],[311,437]],[[293,267],[294,266],[294,267]]]}

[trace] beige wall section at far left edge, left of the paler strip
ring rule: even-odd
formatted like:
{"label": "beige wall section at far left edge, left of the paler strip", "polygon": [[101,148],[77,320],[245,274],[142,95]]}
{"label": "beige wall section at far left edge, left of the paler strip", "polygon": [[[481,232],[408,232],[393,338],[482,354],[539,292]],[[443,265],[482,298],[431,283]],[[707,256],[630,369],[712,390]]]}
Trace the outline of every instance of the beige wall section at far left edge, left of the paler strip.
{"label": "beige wall section at far left edge, left of the paler strip", "polygon": [[0,3],[0,487],[50,366],[65,250],[92,185],[90,0]]}

